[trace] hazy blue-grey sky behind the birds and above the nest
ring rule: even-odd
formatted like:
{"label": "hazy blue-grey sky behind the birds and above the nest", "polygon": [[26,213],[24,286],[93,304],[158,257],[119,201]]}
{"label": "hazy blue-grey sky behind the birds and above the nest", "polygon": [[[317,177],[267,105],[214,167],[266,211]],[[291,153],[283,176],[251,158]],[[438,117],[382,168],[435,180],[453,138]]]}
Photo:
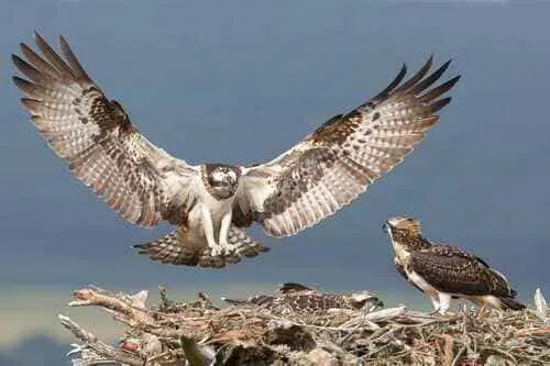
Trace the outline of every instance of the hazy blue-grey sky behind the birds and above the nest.
{"label": "hazy blue-grey sky behind the birds and above the nest", "polygon": [[[522,298],[530,299],[538,286],[549,288],[550,7],[1,3],[0,292],[6,298],[50,289],[68,297],[89,282],[121,290],[164,284],[188,293],[293,280],[418,301],[395,273],[381,229],[394,214],[416,215],[428,237],[486,258]],[[190,163],[270,159],[380,91],[402,63],[416,71],[431,53],[438,64],[453,58],[448,75],[463,78],[440,125],[353,206],[293,237],[265,237],[256,228],[253,233],[272,247],[270,254],[202,270],[136,255],[131,245],[169,228],[123,222],[73,179],[38,137],[20,107],[9,60],[19,42],[32,43],[33,30],[53,43],[64,34],[133,123]],[[14,303],[10,309],[19,309]],[[47,303],[52,309],[44,306],[42,313],[63,311]]]}

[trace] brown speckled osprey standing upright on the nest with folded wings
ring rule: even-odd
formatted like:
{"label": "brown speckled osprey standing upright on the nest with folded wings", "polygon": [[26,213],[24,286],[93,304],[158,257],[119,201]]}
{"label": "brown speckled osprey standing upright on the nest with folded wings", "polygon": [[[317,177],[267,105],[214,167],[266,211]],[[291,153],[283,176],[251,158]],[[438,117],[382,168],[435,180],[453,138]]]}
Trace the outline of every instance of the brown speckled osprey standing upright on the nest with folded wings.
{"label": "brown speckled osprey standing upright on the nest with folded wings", "polygon": [[449,310],[452,298],[468,299],[482,309],[525,308],[503,274],[457,246],[427,240],[418,220],[391,218],[384,230],[392,240],[397,271],[425,292],[441,314]]}

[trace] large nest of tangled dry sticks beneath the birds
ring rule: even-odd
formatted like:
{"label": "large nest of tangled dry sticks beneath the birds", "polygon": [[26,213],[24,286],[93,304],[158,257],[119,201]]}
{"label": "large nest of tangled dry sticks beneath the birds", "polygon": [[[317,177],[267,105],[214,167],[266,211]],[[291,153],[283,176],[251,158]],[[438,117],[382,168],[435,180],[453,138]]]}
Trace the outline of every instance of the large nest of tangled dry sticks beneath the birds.
{"label": "large nest of tangled dry sticks beneath the birds", "polygon": [[[205,293],[189,302],[169,300],[162,288],[160,296],[160,304],[147,307],[146,291],[75,291],[70,306],[99,307],[127,331],[111,346],[59,315],[81,342],[69,352],[74,365],[550,365],[550,312],[540,290],[532,309],[463,308],[450,317],[381,308],[374,296],[361,309],[299,306],[286,301],[293,293],[223,308]],[[274,301],[255,301],[268,297]]]}

